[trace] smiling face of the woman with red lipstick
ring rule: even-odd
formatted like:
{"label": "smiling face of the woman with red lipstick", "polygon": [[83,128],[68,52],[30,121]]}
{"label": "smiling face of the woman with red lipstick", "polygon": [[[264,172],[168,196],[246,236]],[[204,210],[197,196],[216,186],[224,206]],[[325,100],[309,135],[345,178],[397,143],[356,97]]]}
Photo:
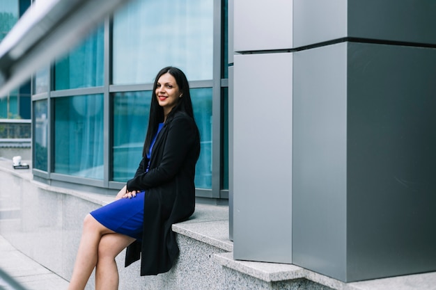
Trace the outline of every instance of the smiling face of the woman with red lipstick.
{"label": "smiling face of the woman with red lipstick", "polygon": [[155,93],[159,106],[164,108],[165,116],[176,106],[182,94],[178,88],[176,79],[168,72],[162,74],[157,80]]}

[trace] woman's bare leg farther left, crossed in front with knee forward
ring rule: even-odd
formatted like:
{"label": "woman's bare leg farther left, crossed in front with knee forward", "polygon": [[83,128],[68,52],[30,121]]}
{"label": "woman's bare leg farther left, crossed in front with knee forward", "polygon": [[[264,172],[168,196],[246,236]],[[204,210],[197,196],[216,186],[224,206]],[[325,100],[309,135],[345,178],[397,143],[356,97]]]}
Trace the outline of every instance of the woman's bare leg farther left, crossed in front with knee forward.
{"label": "woman's bare leg farther left, crossed in front with knee forward", "polygon": [[114,233],[111,229],[104,227],[91,214],[84,219],[84,229],[81,234],[79,250],[72,271],[72,277],[68,290],[83,290],[93,272],[98,260],[98,244],[104,234]]}

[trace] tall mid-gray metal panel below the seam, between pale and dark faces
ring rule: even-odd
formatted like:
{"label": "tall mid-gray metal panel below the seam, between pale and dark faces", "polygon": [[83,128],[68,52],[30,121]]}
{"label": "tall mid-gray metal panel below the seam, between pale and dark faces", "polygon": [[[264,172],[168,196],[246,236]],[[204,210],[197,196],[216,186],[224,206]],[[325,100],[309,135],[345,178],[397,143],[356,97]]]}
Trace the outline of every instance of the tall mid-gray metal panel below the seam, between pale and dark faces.
{"label": "tall mid-gray metal panel below the seam, between pale and dark faces", "polygon": [[347,44],[294,54],[293,264],[343,280]]}

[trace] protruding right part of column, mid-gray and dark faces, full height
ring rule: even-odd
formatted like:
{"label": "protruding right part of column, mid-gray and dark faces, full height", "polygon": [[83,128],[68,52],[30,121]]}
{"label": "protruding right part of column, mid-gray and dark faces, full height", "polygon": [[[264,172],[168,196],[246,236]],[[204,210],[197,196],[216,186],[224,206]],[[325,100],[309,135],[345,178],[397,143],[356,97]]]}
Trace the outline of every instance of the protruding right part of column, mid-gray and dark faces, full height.
{"label": "protruding right part of column, mid-gray and dark faces, full height", "polygon": [[436,4],[315,2],[294,1],[293,263],[435,271]]}

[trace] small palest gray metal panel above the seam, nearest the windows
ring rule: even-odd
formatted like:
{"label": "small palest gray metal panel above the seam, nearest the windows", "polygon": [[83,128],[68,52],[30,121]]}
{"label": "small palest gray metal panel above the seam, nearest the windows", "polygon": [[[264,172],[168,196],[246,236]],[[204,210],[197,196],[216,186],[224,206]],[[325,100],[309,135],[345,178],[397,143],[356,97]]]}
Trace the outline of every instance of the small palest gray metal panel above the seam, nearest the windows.
{"label": "small palest gray metal panel above the seam, nearest the windows", "polygon": [[293,0],[234,1],[235,51],[293,46]]}

